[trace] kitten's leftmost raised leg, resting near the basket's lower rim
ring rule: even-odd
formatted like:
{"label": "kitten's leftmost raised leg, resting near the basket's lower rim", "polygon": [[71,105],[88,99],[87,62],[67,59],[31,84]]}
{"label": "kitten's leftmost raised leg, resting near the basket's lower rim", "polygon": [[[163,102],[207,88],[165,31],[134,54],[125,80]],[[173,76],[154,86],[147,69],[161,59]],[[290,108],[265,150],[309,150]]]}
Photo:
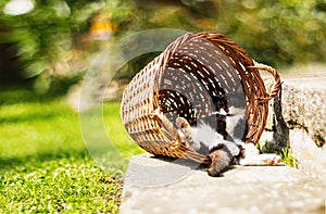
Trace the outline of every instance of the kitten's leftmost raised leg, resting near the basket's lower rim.
{"label": "kitten's leftmost raised leg, resting near the basket's lower rim", "polygon": [[200,150],[200,142],[197,141],[196,134],[192,131],[187,119],[184,117],[177,117],[176,125],[184,134],[184,136],[181,136],[181,140],[186,143],[186,147],[191,148],[195,151]]}

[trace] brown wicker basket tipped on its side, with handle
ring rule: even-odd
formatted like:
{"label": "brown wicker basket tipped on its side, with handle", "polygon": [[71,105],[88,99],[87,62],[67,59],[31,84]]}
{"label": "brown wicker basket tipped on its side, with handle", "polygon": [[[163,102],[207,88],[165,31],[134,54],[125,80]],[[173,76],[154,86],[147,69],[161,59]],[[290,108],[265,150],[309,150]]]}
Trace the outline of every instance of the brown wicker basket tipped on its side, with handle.
{"label": "brown wicker basket tipped on its side, with handle", "polygon": [[[275,79],[266,92],[259,70]],[[236,42],[216,33],[188,33],[172,42],[164,52],[142,68],[123,93],[121,114],[130,137],[155,155],[210,160],[187,148],[180,140],[175,118],[188,122],[224,108],[230,100],[246,108],[247,142],[256,142],[265,127],[268,100],[280,88],[276,71],[255,64]],[[243,97],[236,97],[237,90]]]}

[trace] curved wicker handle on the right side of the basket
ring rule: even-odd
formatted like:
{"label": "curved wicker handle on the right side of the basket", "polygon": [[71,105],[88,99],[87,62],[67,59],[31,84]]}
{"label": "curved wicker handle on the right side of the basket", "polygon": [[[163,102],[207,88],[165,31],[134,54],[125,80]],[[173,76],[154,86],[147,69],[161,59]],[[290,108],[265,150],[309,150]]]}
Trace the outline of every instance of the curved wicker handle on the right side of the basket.
{"label": "curved wicker handle on the right side of the basket", "polygon": [[255,65],[253,66],[247,66],[248,68],[258,68],[258,70],[264,70],[266,72],[268,72],[269,74],[273,75],[274,77],[274,87],[273,87],[273,90],[271,91],[271,93],[267,93],[266,97],[264,98],[259,98],[259,101],[260,102],[267,102],[269,101],[273,97],[275,97],[279,89],[280,89],[280,77],[278,75],[278,73],[276,72],[275,68],[268,66],[268,65],[265,65],[265,64],[261,64],[261,63],[256,63]]}

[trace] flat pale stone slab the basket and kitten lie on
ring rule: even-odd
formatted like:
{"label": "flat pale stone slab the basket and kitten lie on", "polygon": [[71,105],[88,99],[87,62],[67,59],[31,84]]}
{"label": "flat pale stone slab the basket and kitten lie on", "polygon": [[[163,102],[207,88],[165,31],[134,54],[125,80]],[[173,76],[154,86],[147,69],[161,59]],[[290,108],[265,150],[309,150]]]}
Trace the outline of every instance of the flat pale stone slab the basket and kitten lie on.
{"label": "flat pale stone slab the basket and kitten lie on", "polygon": [[125,176],[122,214],[325,213],[325,186],[284,166],[236,166],[223,177],[186,160],[134,156]]}

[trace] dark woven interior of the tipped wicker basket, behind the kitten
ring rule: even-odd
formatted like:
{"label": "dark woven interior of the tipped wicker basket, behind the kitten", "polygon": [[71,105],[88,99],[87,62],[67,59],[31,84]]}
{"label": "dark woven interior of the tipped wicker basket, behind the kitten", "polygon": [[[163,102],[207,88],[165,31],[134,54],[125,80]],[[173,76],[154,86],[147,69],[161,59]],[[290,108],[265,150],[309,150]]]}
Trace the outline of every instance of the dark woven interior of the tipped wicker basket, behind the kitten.
{"label": "dark woven interior of the tipped wicker basket, behind the kitten", "polygon": [[224,138],[229,136],[227,127],[235,127],[226,124],[227,116],[218,112],[242,109],[244,123],[238,124],[237,131],[230,135],[246,139],[246,96],[240,76],[222,50],[210,43],[200,50],[187,46],[171,56],[161,79],[159,105],[175,127],[177,117],[185,117],[192,126],[202,121]]}

